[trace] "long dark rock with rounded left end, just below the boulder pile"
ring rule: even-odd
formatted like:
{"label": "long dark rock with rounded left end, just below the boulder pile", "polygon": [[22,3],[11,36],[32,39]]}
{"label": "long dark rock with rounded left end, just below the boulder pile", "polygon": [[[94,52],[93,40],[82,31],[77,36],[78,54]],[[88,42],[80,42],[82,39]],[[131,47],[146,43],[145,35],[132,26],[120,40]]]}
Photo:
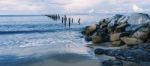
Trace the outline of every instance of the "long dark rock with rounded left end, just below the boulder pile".
{"label": "long dark rock with rounded left end, just below the boulder pile", "polygon": [[142,48],[136,49],[95,49],[95,54],[105,54],[113,56],[119,60],[131,61],[131,62],[150,62],[150,52],[143,50]]}

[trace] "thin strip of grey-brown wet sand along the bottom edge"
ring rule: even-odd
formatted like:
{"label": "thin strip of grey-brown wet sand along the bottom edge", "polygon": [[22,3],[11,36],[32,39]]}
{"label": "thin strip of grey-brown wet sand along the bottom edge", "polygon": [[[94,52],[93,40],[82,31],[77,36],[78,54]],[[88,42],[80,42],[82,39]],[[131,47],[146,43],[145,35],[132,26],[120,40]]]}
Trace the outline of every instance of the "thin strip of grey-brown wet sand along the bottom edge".
{"label": "thin strip of grey-brown wet sand along the bottom edge", "polygon": [[100,63],[96,60],[85,60],[76,63],[65,63],[49,59],[24,66],[100,66]]}

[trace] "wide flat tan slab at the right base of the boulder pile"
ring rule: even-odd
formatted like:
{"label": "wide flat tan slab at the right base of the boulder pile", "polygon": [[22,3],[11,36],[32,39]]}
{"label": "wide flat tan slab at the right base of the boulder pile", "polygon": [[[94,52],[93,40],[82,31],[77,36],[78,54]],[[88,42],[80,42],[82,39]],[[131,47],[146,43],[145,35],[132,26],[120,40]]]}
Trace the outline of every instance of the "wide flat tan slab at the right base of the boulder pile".
{"label": "wide flat tan slab at the right base of the boulder pile", "polygon": [[137,39],[137,38],[130,38],[130,37],[121,37],[121,40],[126,44],[126,45],[137,45],[143,43],[142,40]]}

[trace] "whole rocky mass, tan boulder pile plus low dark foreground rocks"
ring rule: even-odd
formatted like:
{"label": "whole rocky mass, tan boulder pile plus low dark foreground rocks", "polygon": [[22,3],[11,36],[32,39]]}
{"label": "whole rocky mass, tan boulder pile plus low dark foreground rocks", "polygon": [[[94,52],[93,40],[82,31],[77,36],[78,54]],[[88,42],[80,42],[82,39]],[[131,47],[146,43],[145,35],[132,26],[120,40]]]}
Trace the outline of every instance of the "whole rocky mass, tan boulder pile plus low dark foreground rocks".
{"label": "whole rocky mass, tan boulder pile plus low dark foreground rocks", "polygon": [[150,16],[148,14],[134,13],[129,16],[117,14],[101,19],[97,24],[86,26],[82,34],[86,41],[91,41],[93,44],[119,47],[118,49],[95,48],[95,54],[115,58],[103,61],[102,66],[150,65]]}

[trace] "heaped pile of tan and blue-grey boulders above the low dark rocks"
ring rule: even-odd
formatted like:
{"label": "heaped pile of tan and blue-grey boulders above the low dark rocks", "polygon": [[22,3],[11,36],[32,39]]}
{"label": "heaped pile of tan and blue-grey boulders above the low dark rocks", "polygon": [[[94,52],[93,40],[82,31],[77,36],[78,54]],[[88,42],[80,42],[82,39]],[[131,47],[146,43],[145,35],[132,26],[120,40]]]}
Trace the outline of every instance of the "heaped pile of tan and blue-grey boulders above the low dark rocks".
{"label": "heaped pile of tan and blue-grey boulders above the low dark rocks", "polygon": [[87,26],[82,34],[93,44],[111,42],[112,46],[137,45],[150,41],[150,17],[136,13],[130,16],[115,15]]}

